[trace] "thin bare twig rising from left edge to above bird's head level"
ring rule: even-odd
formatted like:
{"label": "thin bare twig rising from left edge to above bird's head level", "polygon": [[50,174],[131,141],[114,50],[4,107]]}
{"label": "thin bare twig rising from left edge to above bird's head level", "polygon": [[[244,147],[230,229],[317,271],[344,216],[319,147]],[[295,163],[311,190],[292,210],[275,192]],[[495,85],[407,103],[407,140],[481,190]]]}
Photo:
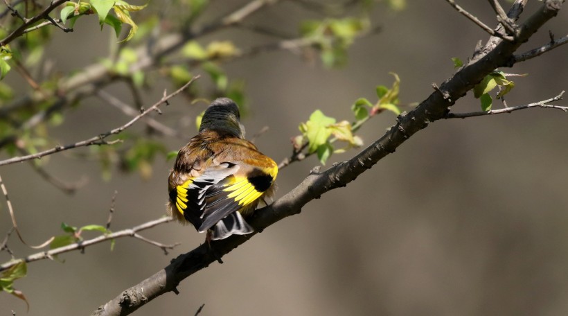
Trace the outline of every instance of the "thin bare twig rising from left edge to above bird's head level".
{"label": "thin bare twig rising from left edge to above bird's head level", "polygon": [[166,95],[166,91],[164,91],[164,96],[157,103],[154,103],[154,105],[152,105],[148,109],[145,109],[143,112],[141,112],[139,115],[134,117],[134,119],[130,120],[125,125],[122,125],[118,128],[115,128],[114,130],[110,130],[109,132],[105,132],[105,133],[100,134],[96,137],[91,137],[90,139],[85,139],[84,141],[78,141],[77,143],[71,143],[69,145],[57,146],[57,147],[54,147],[54,148],[51,148],[51,149],[48,149],[48,150],[44,150],[42,152],[38,152],[37,154],[26,155],[26,156],[21,156],[21,157],[12,157],[10,159],[2,160],[2,161],[0,161],[0,166],[7,165],[7,164],[14,164],[16,162],[26,161],[26,160],[30,160],[30,159],[38,159],[38,158],[41,158],[41,157],[44,157],[44,156],[47,156],[47,155],[52,155],[55,152],[61,152],[63,150],[69,150],[69,149],[72,149],[72,148],[78,148],[78,147],[84,147],[84,146],[93,146],[93,145],[109,145],[109,144],[112,144],[112,143],[116,143],[116,141],[105,141],[105,138],[109,137],[110,135],[118,134],[118,133],[122,132],[123,130],[125,130],[127,128],[130,128],[130,126],[132,124],[136,123],[136,121],[141,119],[146,114],[153,112],[153,111],[156,111],[160,105],[162,105],[164,103],[167,105],[168,100],[170,98],[176,96],[181,91],[184,91],[184,89],[186,89],[193,82],[193,80],[195,80],[197,78],[199,78],[199,76],[193,77],[183,87],[177,89],[172,94]]}

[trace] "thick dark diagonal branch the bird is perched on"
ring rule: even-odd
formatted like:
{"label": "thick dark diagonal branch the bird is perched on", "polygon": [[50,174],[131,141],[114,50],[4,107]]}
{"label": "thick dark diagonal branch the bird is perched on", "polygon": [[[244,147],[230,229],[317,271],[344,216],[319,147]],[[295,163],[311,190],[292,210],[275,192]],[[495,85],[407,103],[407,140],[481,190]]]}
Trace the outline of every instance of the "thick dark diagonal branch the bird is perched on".
{"label": "thick dark diagonal branch the bird is perched on", "polygon": [[[561,6],[562,0],[544,1],[544,5],[519,28],[517,40],[502,41],[480,55],[477,60],[459,69],[416,109],[408,114],[400,114],[396,125],[371,146],[352,159],[335,164],[323,173],[314,170],[292,191],[270,206],[256,211],[251,219],[247,220],[249,224],[256,231],[262,231],[278,220],[300,213],[301,208],[311,200],[334,188],[346,186],[380,159],[394,152],[416,132],[427,128],[429,123],[444,119],[456,100],[464,96],[491,71],[503,67],[523,42],[526,42],[540,26],[556,16]],[[211,242],[211,247],[204,244],[187,254],[182,254],[163,270],[100,306],[92,315],[128,315],[163,293],[177,291],[179,282],[220,260],[224,254],[231,252],[254,235],[256,233],[215,240]],[[144,299],[139,299],[140,297]]]}

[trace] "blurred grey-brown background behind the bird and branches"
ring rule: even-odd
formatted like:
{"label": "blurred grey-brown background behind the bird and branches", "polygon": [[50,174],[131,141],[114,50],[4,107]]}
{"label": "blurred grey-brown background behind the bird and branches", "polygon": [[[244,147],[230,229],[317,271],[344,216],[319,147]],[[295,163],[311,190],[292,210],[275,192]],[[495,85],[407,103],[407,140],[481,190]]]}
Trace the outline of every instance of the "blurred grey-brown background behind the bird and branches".
{"label": "blurred grey-brown background behind the bird and branches", "polygon": [[[199,21],[205,23],[240,8],[247,1],[212,1]],[[486,1],[458,1],[486,24],[495,14]],[[156,3],[154,3],[155,5]],[[522,20],[541,3],[529,1]],[[150,8],[152,9],[152,4]],[[175,10],[175,7],[170,10]],[[553,19],[520,51],[549,42],[548,31],[565,35],[567,15]],[[135,14],[133,14],[135,16]],[[250,24],[297,35],[303,19],[323,16],[292,1],[282,1],[251,15]],[[401,78],[400,100],[420,102],[454,73],[451,58],[467,60],[479,40],[488,37],[446,1],[407,1],[405,10],[378,3],[371,23],[379,33],[357,40],[348,63],[326,69],[318,59],[306,62],[289,51],[259,54],[224,64],[231,78],[246,82],[249,114],[243,122],[266,155],[281,161],[292,152],[290,138],[314,109],[337,119],[353,119],[350,105],[360,97],[375,100],[375,87],[390,87]],[[96,19],[93,17],[93,19]],[[81,69],[108,52],[116,42],[112,30],[96,21],[78,21],[73,33],[55,32],[46,52],[62,71]],[[231,40],[246,48],[274,38],[229,28],[202,40]],[[517,64],[506,72],[515,78],[508,105],[552,98],[568,89],[567,48],[561,47]],[[10,74],[18,79],[16,74]],[[10,78],[9,78],[10,79]],[[200,79],[207,85],[207,79]],[[168,82],[151,82],[143,93],[148,107],[159,100]],[[104,91],[131,103],[123,84]],[[566,105],[565,102],[558,103]],[[193,119],[204,103],[190,105],[178,96],[154,119],[184,134],[195,134]],[[495,108],[502,107],[497,101]],[[410,107],[403,108],[409,110]],[[479,109],[468,94],[452,112]],[[179,295],[154,299],[135,315],[566,315],[568,314],[568,114],[553,109],[526,109],[499,116],[436,121],[411,137],[393,154],[350,183],[307,204],[248,243],[189,277]],[[190,124],[177,126],[179,117]],[[60,143],[73,143],[123,125],[129,117],[91,97],[72,109],[53,128]],[[360,130],[368,145],[395,116],[383,113]],[[134,130],[143,130],[137,123]],[[168,139],[168,150],[186,140]],[[74,195],[41,179],[29,164],[0,168],[3,182],[28,243],[62,234],[60,223],[104,225],[114,191],[118,191],[111,229],[118,231],[159,218],[168,199],[168,172],[173,161],[159,157],[152,175],[113,169],[101,177],[98,162],[77,159],[68,151],[48,157],[45,168],[69,182],[88,178]],[[332,155],[327,166],[355,155]],[[5,159],[6,156],[1,157]],[[296,162],[278,174],[277,198],[298,185],[319,164],[315,157]],[[326,168],[324,167],[324,168]],[[3,198],[2,198],[3,200]],[[10,229],[0,203],[0,232]],[[87,315],[122,290],[168,265],[172,258],[203,243],[205,236],[175,222],[141,232],[160,243],[181,245],[164,256],[161,249],[133,238],[94,245],[85,253],[62,254],[57,261],[28,265],[28,276],[15,283],[30,302],[0,294],[0,315]],[[96,234],[85,234],[85,237]],[[15,236],[16,256],[35,251]],[[0,261],[8,261],[6,252]]]}

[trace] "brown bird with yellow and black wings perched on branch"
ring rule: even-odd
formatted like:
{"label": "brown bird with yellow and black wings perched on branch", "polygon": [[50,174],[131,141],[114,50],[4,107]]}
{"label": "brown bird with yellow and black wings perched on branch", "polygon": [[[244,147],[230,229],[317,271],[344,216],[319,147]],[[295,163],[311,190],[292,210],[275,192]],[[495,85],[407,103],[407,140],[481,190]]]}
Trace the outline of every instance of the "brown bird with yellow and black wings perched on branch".
{"label": "brown bird with yellow and black wings perched on branch", "polygon": [[246,218],[276,191],[278,165],[245,139],[239,108],[217,98],[205,110],[199,133],[177,153],[168,177],[168,213],[206,240],[254,232]]}

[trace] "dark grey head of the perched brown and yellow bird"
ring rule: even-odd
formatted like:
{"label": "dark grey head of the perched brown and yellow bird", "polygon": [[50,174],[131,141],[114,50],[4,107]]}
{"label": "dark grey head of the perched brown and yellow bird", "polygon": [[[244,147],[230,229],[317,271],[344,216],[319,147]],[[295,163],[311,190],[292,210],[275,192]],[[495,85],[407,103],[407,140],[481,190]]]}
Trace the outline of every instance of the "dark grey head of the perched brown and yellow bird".
{"label": "dark grey head of the perched brown and yellow bird", "polygon": [[239,108],[230,98],[218,98],[209,105],[203,114],[199,132],[216,130],[244,138],[245,128],[240,123]]}

